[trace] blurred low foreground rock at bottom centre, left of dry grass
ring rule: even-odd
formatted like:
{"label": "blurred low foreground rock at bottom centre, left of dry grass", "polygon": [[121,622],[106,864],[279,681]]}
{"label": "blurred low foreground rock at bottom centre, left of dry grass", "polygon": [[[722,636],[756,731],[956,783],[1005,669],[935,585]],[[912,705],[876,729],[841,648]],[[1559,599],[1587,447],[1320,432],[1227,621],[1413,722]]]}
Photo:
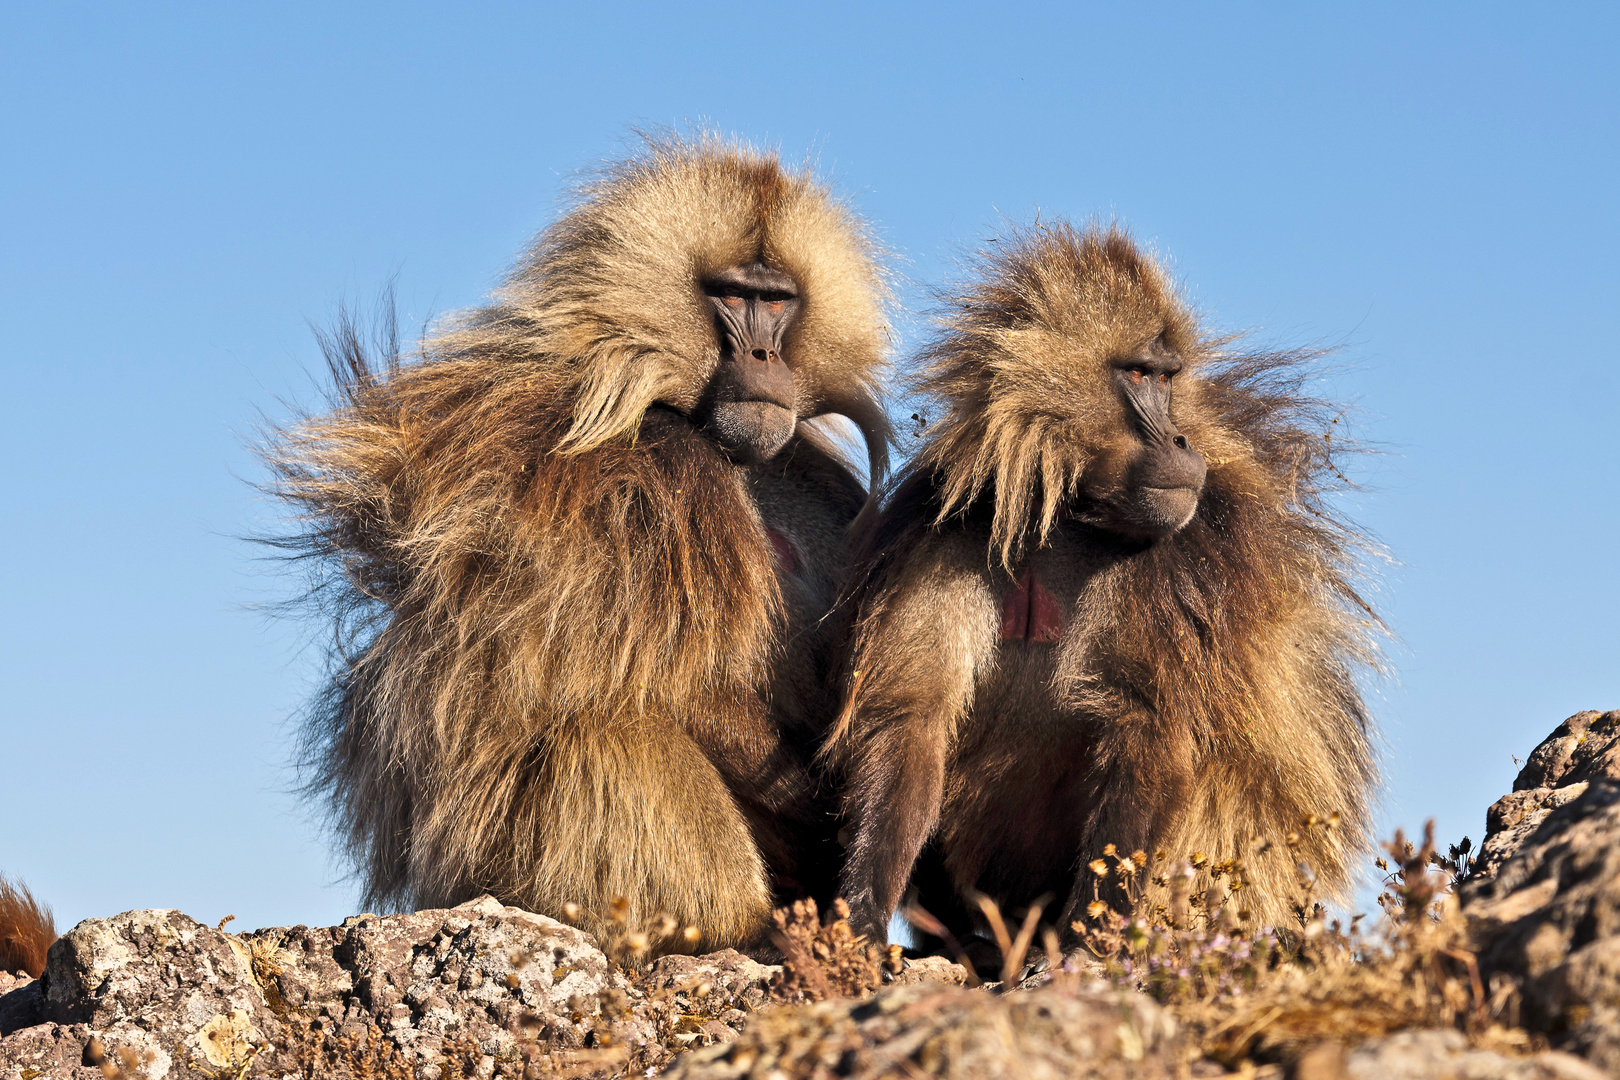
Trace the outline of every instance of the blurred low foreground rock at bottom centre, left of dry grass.
{"label": "blurred low foreground rock at bottom centre, left of dry grass", "polygon": [[1174,1077],[1176,1028],[1152,999],[1095,986],[1006,996],[896,986],[870,1001],[782,1006],[676,1061],[679,1080]]}

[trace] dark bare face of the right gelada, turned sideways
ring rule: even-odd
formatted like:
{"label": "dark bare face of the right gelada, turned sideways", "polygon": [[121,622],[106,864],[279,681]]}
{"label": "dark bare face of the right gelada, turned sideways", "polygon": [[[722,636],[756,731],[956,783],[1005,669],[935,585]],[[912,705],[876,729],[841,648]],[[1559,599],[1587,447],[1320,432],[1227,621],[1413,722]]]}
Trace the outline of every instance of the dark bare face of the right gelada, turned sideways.
{"label": "dark bare face of the right gelada, turned sideways", "polygon": [[1087,476],[1079,518],[1132,539],[1157,541],[1192,520],[1204,491],[1204,457],[1173,419],[1170,400],[1181,358],[1160,342],[1115,361],[1113,390],[1126,432]]}

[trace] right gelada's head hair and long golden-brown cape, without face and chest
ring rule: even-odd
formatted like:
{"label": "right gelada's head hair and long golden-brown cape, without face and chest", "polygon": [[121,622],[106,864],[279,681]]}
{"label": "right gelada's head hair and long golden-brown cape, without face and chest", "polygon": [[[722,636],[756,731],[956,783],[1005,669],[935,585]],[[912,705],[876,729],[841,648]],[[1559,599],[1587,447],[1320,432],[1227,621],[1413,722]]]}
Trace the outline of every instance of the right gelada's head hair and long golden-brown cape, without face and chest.
{"label": "right gelada's head hair and long golden-brown cape, without face and chest", "polygon": [[[1113,557],[1071,615],[1050,691],[1097,717],[1100,772],[1189,763],[1192,803],[1163,837],[1181,855],[1246,853],[1257,836],[1338,814],[1338,829],[1315,829],[1293,855],[1325,895],[1343,895],[1377,782],[1358,678],[1380,665],[1382,623],[1358,591],[1371,542],[1327,499],[1345,484],[1341,410],[1304,392],[1312,353],[1207,337],[1116,228],[1004,238],[925,351],[914,385],[941,419],[862,541],[836,730],[850,737],[833,753],[859,761],[862,738],[915,708],[912,674],[938,667],[904,654],[896,625],[922,588],[914,552],[988,525],[985,572],[1009,581],[1021,552],[1085,497],[1098,440],[1126,429],[1106,366],[1155,338],[1186,361],[1173,416],[1207,460],[1204,491],[1192,520],[1152,544],[1092,534]],[[1294,865],[1273,853],[1251,870],[1257,910],[1283,918]]]}

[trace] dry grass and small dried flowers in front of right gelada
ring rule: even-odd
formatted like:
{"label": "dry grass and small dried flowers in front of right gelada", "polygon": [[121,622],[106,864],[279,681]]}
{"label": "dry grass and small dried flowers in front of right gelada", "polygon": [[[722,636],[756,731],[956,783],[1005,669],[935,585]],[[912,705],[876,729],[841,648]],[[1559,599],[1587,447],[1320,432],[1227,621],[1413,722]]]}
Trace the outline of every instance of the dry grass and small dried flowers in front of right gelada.
{"label": "dry grass and small dried flowers in front of right gelada", "polygon": [[[1290,834],[1288,847],[1298,842]],[[1531,1049],[1515,1023],[1513,988],[1482,984],[1456,912],[1452,884],[1466,873],[1468,842],[1442,857],[1429,823],[1421,845],[1396,832],[1385,850],[1383,916],[1371,929],[1359,915],[1328,920],[1302,865],[1294,923],[1270,928],[1243,908],[1241,860],[1111,852],[1092,871],[1098,882],[1123,884],[1132,910],[1094,904],[1074,925],[1085,962],[1071,957],[1048,978],[1100,973],[1142,989],[1171,1009],[1204,1056],[1230,1067],[1296,1061],[1319,1043],[1403,1028],[1456,1028],[1476,1046]]]}

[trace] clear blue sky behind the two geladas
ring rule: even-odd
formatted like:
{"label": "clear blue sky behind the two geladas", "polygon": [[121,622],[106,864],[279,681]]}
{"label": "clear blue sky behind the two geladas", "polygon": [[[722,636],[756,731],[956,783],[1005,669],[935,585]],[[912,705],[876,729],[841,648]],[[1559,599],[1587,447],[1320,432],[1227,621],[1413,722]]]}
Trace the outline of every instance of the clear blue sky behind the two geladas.
{"label": "clear blue sky behind the two geladas", "polygon": [[[309,322],[476,303],[637,126],[818,168],[930,283],[1116,217],[1212,325],[1336,350],[1380,453],[1380,823],[1484,810],[1620,706],[1612,5],[0,6],[0,870],[62,925],[322,925],[306,635],[243,538]],[[899,322],[901,345],[925,322]]]}

